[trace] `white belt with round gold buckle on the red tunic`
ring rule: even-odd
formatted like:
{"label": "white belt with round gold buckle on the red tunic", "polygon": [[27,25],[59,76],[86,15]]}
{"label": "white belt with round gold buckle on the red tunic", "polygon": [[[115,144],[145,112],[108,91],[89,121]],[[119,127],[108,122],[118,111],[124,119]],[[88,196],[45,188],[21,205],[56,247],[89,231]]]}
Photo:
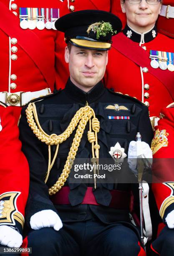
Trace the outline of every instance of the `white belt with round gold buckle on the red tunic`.
{"label": "white belt with round gold buckle on the red tunic", "polygon": [[8,106],[22,107],[26,105],[30,100],[36,99],[50,94],[50,88],[45,88],[36,92],[0,92],[0,101]]}

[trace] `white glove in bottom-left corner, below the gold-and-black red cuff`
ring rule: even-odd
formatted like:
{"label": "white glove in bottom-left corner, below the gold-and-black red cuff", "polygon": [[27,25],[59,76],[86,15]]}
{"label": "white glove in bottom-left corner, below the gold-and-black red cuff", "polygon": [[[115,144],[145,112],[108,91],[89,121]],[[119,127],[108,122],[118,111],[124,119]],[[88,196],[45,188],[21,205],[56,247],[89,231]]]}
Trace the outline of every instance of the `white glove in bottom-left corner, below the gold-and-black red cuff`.
{"label": "white glove in bottom-left corner, below the gold-and-black red cuff", "polygon": [[0,226],[0,244],[8,247],[20,247],[23,237],[15,229],[2,225]]}

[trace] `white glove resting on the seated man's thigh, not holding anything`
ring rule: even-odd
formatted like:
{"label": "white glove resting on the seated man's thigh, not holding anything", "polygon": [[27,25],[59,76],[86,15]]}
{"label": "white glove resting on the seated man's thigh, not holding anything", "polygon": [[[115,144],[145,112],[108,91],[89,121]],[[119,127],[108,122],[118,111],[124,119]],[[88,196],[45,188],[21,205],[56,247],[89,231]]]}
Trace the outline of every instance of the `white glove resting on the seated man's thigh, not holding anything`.
{"label": "white glove resting on the seated man's thigh, not holding anything", "polygon": [[54,230],[58,231],[63,227],[63,224],[56,212],[53,210],[42,210],[31,216],[30,226],[34,230],[40,228],[54,228]]}

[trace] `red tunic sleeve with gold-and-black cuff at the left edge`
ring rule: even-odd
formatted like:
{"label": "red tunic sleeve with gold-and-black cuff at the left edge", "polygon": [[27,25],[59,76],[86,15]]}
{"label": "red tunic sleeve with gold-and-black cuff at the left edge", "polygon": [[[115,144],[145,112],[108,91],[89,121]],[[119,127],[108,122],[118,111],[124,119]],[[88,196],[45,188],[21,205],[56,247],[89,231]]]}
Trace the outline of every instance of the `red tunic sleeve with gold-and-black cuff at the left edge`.
{"label": "red tunic sleeve with gold-and-black cuff at the left edge", "polygon": [[29,189],[29,168],[21,152],[13,109],[4,107],[2,103],[0,130],[0,225],[14,226],[22,233]]}

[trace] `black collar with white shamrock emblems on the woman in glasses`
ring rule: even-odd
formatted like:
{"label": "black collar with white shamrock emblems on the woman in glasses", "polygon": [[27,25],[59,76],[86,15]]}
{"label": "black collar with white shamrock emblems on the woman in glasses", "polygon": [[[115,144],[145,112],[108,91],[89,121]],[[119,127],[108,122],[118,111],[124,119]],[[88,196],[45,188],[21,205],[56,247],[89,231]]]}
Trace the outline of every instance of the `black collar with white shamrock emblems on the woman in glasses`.
{"label": "black collar with white shamrock emblems on the woman in glasses", "polygon": [[126,27],[123,30],[123,33],[125,36],[130,38],[132,41],[137,42],[137,43],[141,42],[143,44],[143,43],[148,43],[148,42],[154,40],[154,38],[156,38],[157,29],[156,29],[156,26],[154,26],[154,28],[152,28],[150,31],[147,31],[145,33],[138,33],[135,30],[133,30],[132,28],[130,28],[128,25],[126,25]]}

